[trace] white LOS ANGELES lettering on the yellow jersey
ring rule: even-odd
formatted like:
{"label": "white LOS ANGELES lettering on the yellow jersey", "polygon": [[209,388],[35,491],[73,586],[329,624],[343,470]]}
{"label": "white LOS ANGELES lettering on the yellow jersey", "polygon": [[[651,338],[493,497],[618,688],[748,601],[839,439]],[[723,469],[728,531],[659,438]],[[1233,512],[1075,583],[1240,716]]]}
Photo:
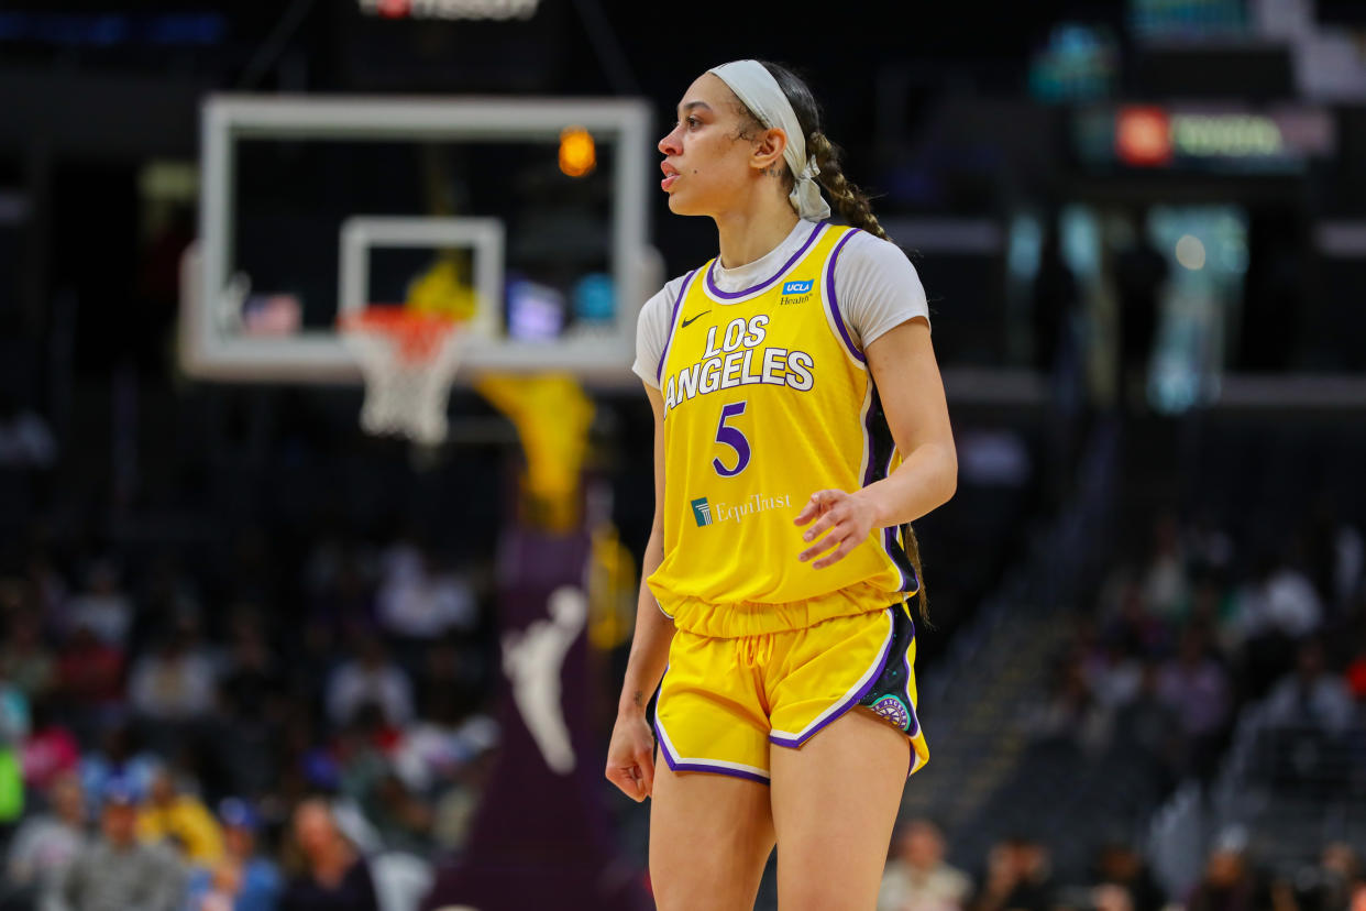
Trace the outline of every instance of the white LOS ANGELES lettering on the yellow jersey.
{"label": "white LOS ANGELES lettering on the yellow jersey", "polygon": [[759,347],[768,337],[768,314],[761,313],[749,320],[732,320],[724,331],[720,326],[709,328],[702,359],[683,367],[665,382],[665,412],[717,389],[766,384],[806,392],[816,385],[816,359],[811,355],[788,348]]}

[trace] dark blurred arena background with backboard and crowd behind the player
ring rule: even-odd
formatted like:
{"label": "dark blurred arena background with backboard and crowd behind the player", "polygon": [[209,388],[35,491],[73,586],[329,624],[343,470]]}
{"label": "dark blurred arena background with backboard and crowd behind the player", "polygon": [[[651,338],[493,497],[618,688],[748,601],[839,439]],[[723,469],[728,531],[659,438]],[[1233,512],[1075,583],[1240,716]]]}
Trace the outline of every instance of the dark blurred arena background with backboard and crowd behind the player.
{"label": "dark blurred arena background with backboard and crowd behind the player", "polygon": [[738,57],[822,98],[958,447],[878,908],[1366,910],[1356,0],[3,4],[0,908],[653,907],[627,367]]}

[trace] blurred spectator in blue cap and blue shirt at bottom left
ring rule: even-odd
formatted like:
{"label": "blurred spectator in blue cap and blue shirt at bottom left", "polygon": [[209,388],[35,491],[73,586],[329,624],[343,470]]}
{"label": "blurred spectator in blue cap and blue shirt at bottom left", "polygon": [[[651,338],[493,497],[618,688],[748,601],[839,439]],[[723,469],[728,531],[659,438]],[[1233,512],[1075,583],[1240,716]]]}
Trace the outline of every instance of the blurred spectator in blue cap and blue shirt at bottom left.
{"label": "blurred spectator in blue cap and blue shirt at bottom left", "polygon": [[189,911],[275,911],[283,880],[276,865],[257,852],[261,821],[250,803],[228,798],[219,804],[223,822],[223,860],[190,877]]}

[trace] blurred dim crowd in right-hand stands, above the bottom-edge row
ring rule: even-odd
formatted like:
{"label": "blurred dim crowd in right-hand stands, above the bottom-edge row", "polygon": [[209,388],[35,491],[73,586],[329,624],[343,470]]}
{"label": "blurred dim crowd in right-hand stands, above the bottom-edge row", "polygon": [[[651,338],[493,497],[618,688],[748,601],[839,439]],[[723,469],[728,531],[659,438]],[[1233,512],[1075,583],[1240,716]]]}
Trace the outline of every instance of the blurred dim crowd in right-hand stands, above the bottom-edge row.
{"label": "blurred dim crowd in right-hand stands, above the bottom-edge row", "polygon": [[1157,515],[1076,617],[1031,732],[1137,748],[1171,784],[1214,776],[1244,706],[1328,738],[1359,727],[1366,548],[1326,505],[1307,512],[1285,541]]}

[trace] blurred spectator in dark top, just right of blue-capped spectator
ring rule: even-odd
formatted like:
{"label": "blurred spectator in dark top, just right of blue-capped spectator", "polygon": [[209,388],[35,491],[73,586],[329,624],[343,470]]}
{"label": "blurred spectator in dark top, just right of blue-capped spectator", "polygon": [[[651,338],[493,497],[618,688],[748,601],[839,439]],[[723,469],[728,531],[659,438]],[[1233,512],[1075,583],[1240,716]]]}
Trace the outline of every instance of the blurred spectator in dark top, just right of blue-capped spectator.
{"label": "blurred spectator in dark top, just right of blue-capped spectator", "polygon": [[295,809],[294,839],[305,870],[290,882],[280,911],[378,911],[370,869],[325,802],[310,799]]}

